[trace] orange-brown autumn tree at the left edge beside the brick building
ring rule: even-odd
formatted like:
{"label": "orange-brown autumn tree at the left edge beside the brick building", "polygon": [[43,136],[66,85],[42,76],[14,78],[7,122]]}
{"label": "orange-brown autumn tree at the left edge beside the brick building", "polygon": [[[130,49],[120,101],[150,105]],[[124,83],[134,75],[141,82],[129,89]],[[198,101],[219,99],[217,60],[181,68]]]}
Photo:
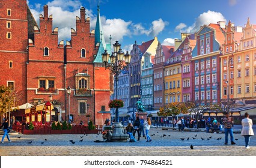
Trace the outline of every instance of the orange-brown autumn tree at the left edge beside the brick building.
{"label": "orange-brown autumn tree at the left edge beside the brick building", "polygon": [[10,125],[10,112],[13,109],[17,109],[17,101],[20,99],[20,94],[18,94],[13,88],[7,86],[0,86],[0,111],[1,118],[2,115],[9,112],[8,115],[8,124]]}

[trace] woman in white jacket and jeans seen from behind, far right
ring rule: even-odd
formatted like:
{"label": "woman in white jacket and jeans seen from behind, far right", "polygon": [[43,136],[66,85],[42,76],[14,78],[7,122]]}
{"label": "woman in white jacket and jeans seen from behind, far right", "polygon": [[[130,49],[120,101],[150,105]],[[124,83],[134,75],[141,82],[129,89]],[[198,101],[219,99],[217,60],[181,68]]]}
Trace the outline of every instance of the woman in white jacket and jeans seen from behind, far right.
{"label": "woman in white jacket and jeans seen from behind, far right", "polygon": [[250,149],[249,142],[251,136],[254,136],[254,130],[252,130],[252,119],[249,119],[249,114],[245,113],[245,118],[242,119],[242,131],[241,135],[245,137],[245,148]]}

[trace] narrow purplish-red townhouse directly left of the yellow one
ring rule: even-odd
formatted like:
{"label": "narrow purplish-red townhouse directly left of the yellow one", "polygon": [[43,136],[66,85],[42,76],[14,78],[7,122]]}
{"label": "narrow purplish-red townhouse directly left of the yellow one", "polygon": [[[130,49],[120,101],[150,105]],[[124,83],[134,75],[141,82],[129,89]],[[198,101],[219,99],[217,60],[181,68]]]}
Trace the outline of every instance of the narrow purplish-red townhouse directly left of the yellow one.
{"label": "narrow purplish-red townhouse directly left of the yellow one", "polygon": [[165,72],[163,65],[166,60],[174,52],[174,46],[163,46],[158,43],[156,48],[156,56],[154,57],[154,109],[159,110],[165,103],[165,89],[168,89],[168,85],[165,85]]}

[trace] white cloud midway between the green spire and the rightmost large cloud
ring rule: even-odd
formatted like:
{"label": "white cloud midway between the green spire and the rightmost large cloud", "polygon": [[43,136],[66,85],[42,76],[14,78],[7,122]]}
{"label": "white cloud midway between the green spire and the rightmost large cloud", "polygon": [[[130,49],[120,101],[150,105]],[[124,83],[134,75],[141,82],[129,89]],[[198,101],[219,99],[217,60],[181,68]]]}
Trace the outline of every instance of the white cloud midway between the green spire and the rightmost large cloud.
{"label": "white cloud midway between the green spire and the rightmost large cloud", "polygon": [[145,29],[144,26],[142,26],[141,23],[132,25],[133,27],[133,34],[135,35],[151,35],[151,36],[157,36],[160,32],[163,31],[166,25],[168,25],[168,22],[163,21],[161,18],[158,20],[154,20],[151,22],[152,25],[149,29]]}

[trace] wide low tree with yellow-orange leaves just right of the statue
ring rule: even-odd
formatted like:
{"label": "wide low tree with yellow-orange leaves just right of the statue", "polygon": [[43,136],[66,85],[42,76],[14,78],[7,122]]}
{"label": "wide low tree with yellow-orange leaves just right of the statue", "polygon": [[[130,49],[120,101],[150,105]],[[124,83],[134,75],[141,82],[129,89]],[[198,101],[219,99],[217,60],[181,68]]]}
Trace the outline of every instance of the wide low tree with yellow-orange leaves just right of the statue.
{"label": "wide low tree with yellow-orange leaves just right of the statue", "polygon": [[172,127],[174,127],[174,118],[180,113],[187,113],[186,104],[180,102],[174,102],[166,104],[164,107],[160,107],[158,116],[171,116],[172,117]]}

